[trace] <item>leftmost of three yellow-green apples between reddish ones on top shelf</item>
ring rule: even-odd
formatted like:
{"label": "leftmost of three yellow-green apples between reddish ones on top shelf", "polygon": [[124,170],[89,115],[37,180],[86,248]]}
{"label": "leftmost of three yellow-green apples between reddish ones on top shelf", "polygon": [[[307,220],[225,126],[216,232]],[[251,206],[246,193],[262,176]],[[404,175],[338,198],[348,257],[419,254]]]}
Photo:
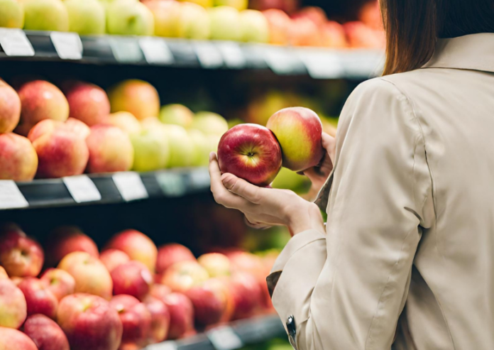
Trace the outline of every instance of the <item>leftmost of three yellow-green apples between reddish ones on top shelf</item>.
{"label": "leftmost of three yellow-green apples between reddish ones on top shelf", "polygon": [[210,33],[207,10],[190,2],[182,3],[177,36],[179,38],[206,40],[209,39]]}

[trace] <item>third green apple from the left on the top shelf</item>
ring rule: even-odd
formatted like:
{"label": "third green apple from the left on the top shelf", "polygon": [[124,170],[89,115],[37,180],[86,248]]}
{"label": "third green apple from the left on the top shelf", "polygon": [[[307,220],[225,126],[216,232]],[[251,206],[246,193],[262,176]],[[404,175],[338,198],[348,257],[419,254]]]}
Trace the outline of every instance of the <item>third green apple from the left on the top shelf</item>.
{"label": "third green apple from the left on the top shelf", "polygon": [[70,31],[81,35],[104,34],[106,13],[98,0],[65,0]]}

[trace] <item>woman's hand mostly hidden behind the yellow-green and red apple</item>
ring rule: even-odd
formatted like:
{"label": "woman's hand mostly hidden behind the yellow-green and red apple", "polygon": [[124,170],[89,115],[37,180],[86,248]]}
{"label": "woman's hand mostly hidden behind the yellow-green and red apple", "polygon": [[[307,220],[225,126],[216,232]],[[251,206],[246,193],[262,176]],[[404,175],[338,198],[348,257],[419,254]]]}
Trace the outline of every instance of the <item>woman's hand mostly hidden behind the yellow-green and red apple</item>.
{"label": "woman's hand mostly hidden behind the yellow-green and red apple", "polygon": [[304,175],[309,177],[312,182],[309,192],[304,197],[308,200],[316,199],[317,194],[326,182],[333,170],[334,155],[336,152],[336,139],[327,133],[322,133],[322,147],[326,150],[326,154],[322,162],[316,167],[304,170]]}

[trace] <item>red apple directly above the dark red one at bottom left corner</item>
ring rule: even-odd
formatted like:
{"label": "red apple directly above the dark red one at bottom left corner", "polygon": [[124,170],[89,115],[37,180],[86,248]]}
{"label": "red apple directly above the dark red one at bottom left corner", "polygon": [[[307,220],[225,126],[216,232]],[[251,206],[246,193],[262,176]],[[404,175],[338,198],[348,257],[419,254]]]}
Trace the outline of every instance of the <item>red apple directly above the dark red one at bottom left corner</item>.
{"label": "red apple directly above the dark red one at bottom left corner", "polygon": [[26,297],[26,305],[28,307],[28,316],[41,314],[55,319],[57,316],[58,300],[44,280],[34,277],[26,277],[18,288]]}

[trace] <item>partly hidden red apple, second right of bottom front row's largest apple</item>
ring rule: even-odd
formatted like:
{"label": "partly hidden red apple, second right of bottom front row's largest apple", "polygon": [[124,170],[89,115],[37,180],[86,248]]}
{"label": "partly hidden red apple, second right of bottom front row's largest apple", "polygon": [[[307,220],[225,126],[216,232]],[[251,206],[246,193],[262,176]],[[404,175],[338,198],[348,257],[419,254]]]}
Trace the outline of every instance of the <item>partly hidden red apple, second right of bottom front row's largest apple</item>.
{"label": "partly hidden red apple, second right of bottom front row's largest apple", "polygon": [[144,305],[151,314],[151,327],[148,334],[148,343],[155,344],[166,339],[170,329],[170,311],[158,297],[147,295],[143,299]]}

